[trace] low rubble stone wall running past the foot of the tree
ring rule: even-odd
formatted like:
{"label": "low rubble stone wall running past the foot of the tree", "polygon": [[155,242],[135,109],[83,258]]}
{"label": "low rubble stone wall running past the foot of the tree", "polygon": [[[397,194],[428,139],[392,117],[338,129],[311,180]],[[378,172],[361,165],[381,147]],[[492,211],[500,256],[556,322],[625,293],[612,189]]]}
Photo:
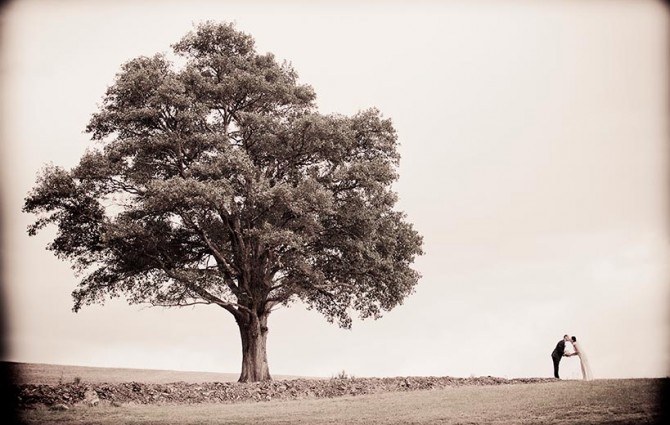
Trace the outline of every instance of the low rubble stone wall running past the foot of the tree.
{"label": "low rubble stone wall running past the foot of the tree", "polygon": [[96,404],[192,404],[247,401],[332,398],[345,395],[377,394],[393,391],[439,389],[463,385],[503,385],[548,382],[554,379],[503,379],[494,377],[397,377],[346,379],[295,379],[257,383],[208,382],[169,384],[67,383],[59,385],[22,384],[15,387],[19,407]]}

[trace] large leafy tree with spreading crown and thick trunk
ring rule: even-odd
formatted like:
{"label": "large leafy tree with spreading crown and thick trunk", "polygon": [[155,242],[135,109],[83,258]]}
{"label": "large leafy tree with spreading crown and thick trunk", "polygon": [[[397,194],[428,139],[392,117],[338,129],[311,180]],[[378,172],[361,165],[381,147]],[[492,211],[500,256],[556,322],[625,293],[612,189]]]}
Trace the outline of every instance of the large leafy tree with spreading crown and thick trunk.
{"label": "large leafy tree with spreading crown and thick trunk", "polygon": [[124,295],[215,304],[242,340],[240,381],[268,380],[268,316],[301,300],[330,322],[378,318],[412,293],[421,236],[394,210],[399,154],[370,109],[323,115],[286,63],[207,22],[121,67],[79,164],[47,166],[24,211],[82,273],[82,306]]}

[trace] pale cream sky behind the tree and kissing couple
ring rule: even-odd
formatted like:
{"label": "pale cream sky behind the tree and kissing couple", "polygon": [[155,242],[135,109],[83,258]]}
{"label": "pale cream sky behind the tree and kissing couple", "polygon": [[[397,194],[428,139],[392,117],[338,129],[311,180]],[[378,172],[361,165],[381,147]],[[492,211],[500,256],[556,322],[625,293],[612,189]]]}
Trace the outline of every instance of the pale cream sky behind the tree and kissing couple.
{"label": "pale cream sky behind the tree and kissing couple", "polygon": [[[270,317],[270,372],[548,377],[568,333],[598,378],[670,359],[668,25],[653,1],[22,0],[2,14],[5,360],[238,373],[217,307],[72,313],[69,264],[29,238],[38,170],[72,167],[120,65],[232,21],[321,112],[375,106],[401,143],[398,209],[424,235],[404,305],[351,330]],[[579,376],[566,359],[562,375]]]}

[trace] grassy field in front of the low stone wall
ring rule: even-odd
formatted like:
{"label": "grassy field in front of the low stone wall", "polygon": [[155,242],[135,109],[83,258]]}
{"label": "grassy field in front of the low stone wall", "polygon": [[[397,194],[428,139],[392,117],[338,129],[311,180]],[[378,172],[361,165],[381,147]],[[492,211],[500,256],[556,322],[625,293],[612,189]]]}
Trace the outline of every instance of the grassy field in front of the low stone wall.
{"label": "grassy field in front of the low stone wall", "polygon": [[661,379],[556,381],[283,402],[25,410],[26,424],[654,424]]}

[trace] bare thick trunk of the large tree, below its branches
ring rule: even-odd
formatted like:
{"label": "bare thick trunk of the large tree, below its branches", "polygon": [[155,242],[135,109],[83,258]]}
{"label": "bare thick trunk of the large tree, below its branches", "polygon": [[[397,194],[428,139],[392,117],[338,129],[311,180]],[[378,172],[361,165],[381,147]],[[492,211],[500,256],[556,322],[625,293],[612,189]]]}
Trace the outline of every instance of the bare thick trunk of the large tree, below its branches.
{"label": "bare thick trunk of the large tree, below its branches", "polygon": [[267,338],[268,315],[248,314],[238,320],[242,338],[242,373],[238,382],[270,381],[268,368]]}

